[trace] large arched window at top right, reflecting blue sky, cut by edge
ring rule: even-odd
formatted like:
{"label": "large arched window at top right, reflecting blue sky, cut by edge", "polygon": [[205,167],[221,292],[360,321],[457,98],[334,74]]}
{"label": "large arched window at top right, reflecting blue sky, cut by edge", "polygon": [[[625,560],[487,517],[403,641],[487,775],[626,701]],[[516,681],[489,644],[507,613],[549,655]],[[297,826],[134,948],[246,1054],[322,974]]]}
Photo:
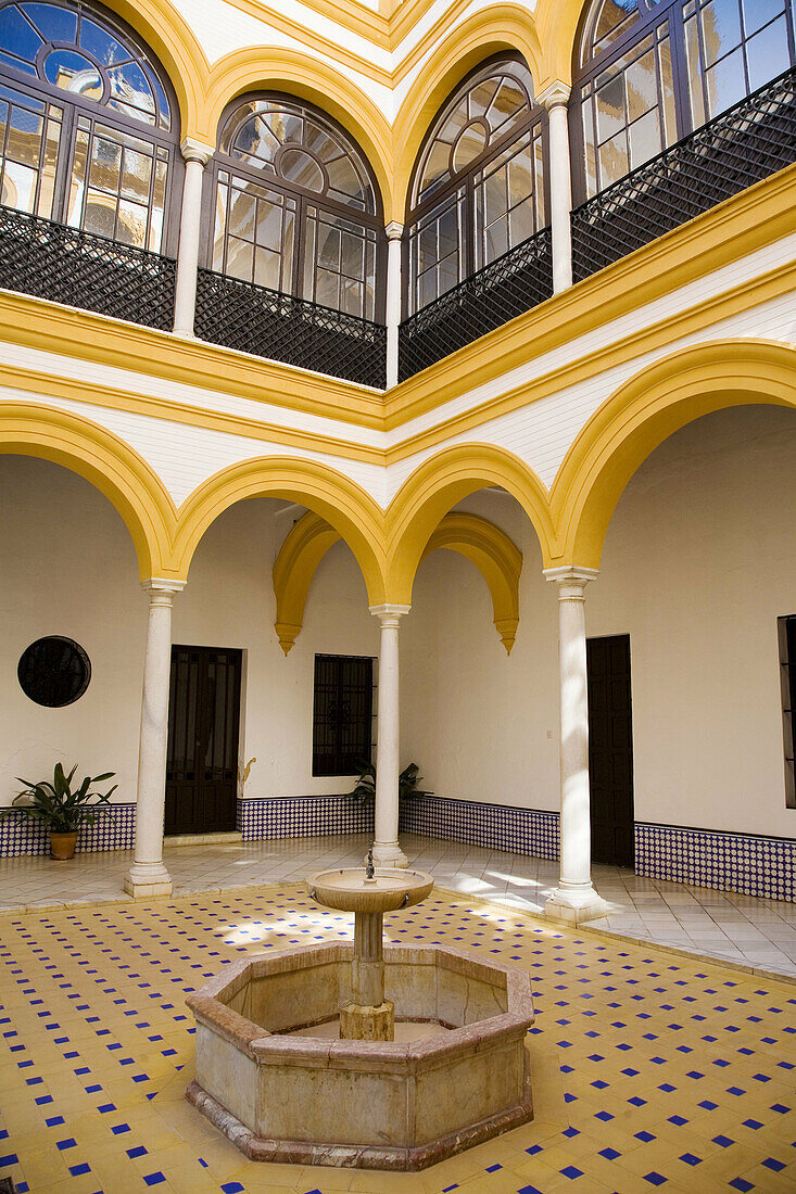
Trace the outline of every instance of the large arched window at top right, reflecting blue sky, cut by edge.
{"label": "large arched window at top right, reflecting blue sky, cut by edge", "polygon": [[624,178],[795,62],[790,0],[594,0],[575,63],[578,197]]}

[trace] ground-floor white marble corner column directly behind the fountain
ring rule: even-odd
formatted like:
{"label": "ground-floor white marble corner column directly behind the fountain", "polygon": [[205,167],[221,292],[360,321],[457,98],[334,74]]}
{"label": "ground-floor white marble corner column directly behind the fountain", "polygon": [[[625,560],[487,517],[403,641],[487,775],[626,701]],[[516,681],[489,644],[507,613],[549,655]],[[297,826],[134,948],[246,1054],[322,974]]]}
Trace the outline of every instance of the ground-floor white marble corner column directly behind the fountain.
{"label": "ground-floor white marble corner column directly behind the fountain", "polygon": [[406,855],[398,845],[398,627],[409,605],[371,605],[381,623],[379,645],[379,719],[376,724],[376,807],[373,861],[379,867],[405,867]]}

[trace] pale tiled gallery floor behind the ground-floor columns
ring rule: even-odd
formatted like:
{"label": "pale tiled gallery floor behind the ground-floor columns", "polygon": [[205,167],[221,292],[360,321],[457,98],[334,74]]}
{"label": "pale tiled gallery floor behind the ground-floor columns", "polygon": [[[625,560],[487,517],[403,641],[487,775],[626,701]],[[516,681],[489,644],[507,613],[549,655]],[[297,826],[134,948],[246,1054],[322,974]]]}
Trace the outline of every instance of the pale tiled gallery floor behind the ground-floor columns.
{"label": "pale tiled gallery floor behind the ground-floor columns", "polygon": [[[541,912],[556,885],[556,862],[415,835],[402,842],[412,866],[429,870],[451,891]],[[174,847],[166,851],[166,863],[179,894],[301,879],[325,866],[359,863],[366,848],[363,835]],[[123,898],[129,864],[130,855],[121,851],[59,863],[41,857],[1,861],[0,909]],[[594,881],[610,915],[592,922],[593,929],[796,977],[795,904],[641,879],[616,867],[595,867]]]}

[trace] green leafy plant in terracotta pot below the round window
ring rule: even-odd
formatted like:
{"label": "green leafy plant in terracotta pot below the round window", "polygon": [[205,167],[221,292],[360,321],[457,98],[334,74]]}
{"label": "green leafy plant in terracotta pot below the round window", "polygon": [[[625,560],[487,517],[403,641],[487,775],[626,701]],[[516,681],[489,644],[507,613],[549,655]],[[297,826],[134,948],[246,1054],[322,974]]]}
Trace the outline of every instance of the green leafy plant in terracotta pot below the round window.
{"label": "green leafy plant in terracotta pot below the round window", "polygon": [[[80,787],[72,790],[72,781],[78,764],[72,768],[68,775],[63,774],[61,763],[55,764],[53,782],[42,780],[39,783],[31,783],[29,780],[17,778],[20,783],[26,783],[12,805],[33,820],[43,821],[50,830],[50,854],[54,858],[72,858],[78,844],[78,831],[81,825],[93,825],[97,820],[94,812],[97,805],[110,805],[110,798],[116,792],[118,784],[105,793],[92,792],[94,783],[103,783],[112,778],[115,771],[105,771],[104,775],[96,775],[93,778],[86,776]],[[92,801],[94,804],[92,805]],[[0,813],[2,817],[11,816],[12,810]],[[106,812],[112,818],[110,808]]]}

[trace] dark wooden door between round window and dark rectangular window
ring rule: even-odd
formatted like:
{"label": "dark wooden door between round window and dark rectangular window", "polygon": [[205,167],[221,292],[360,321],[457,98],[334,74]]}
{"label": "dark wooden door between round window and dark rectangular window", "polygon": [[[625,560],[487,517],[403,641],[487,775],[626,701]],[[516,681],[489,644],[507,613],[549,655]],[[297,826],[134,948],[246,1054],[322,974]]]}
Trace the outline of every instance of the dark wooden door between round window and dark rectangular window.
{"label": "dark wooden door between round window and dark rectangular window", "polygon": [[166,833],[235,827],[241,652],[171,648]]}

